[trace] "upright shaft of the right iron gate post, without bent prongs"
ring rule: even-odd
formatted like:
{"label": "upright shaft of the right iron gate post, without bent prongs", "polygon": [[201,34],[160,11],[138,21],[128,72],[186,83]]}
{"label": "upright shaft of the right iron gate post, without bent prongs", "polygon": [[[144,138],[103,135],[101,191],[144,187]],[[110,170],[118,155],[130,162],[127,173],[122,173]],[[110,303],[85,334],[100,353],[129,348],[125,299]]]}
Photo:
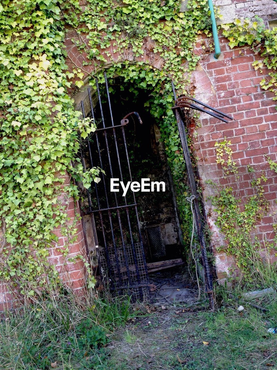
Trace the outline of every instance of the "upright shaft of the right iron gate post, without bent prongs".
{"label": "upright shaft of the right iron gate post, without bent prongs", "polygon": [[[176,94],[175,94],[175,88],[174,88],[173,82],[172,82],[172,90],[173,90],[173,94],[175,98]],[[195,216],[195,221],[197,225],[198,238],[199,238],[201,255],[202,255],[202,260],[203,260],[203,265],[204,265],[203,267],[204,267],[204,274],[205,274],[206,293],[208,294],[210,308],[213,309],[214,307],[213,285],[212,285],[211,273],[210,273],[209,263],[208,263],[208,258],[207,258],[207,250],[206,250],[204,233],[203,233],[201,213],[199,209],[199,202],[198,202],[199,194],[197,193],[197,190],[196,190],[195,176],[194,176],[194,171],[193,171],[192,163],[191,163],[191,156],[190,156],[189,148],[188,148],[187,135],[185,132],[185,124],[182,121],[182,118],[179,114],[178,109],[175,109],[175,117],[176,117],[177,126],[179,130],[179,137],[181,140],[184,159],[185,159],[186,166],[187,166],[187,174],[188,174],[188,179],[189,179],[189,185],[191,187],[191,194],[195,196],[195,199],[193,201],[194,216]]]}

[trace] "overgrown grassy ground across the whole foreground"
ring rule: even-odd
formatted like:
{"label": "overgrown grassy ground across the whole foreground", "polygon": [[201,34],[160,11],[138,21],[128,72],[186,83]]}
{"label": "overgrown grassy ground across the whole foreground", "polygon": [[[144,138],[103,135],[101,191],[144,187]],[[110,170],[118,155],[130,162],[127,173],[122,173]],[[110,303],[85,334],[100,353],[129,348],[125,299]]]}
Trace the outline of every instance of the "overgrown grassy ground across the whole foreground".
{"label": "overgrown grassy ground across the whole foreground", "polygon": [[252,275],[255,285],[216,287],[215,312],[203,303],[138,310],[129,297],[93,291],[80,305],[53,292],[1,320],[0,369],[277,370],[277,334],[267,332],[277,326],[277,293],[254,301],[266,312],[242,300],[247,290],[277,292],[276,268],[257,261]]}

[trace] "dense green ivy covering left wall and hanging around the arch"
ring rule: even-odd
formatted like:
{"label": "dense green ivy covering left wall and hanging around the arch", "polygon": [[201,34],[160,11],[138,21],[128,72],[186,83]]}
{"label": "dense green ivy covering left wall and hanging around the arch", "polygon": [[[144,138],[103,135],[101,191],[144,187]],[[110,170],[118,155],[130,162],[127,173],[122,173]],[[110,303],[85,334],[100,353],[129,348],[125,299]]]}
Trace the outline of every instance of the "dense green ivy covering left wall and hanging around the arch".
{"label": "dense green ivy covering left wall and hanging around the arch", "polygon": [[[114,50],[123,55],[128,49],[139,58],[147,37],[153,41],[154,53],[163,60],[160,69],[122,57],[110,64],[109,76],[120,74],[139,87],[151,87],[151,110],[161,120],[173,175],[177,180],[183,177],[184,163],[169,109],[170,75],[174,75],[179,92],[185,92],[189,74],[200,58],[192,53],[193,42],[209,26],[209,13],[206,0],[190,1],[184,13],[178,7],[176,0],[108,4],[89,0],[82,8],[75,0],[1,1],[1,279],[12,280],[23,290],[27,286],[30,294],[35,285],[45,284],[47,249],[57,240],[52,231],[62,226],[71,242],[76,232],[74,225],[68,224],[59,195],[76,199],[78,189],[71,183],[61,190],[63,175],[69,172],[72,179],[82,177],[86,186],[93,179],[98,181],[99,169],[83,175],[78,162],[75,168],[71,165],[79,148],[78,132],[85,137],[94,125],[79,120],[67,94],[72,78],[77,77],[76,86],[82,86],[84,71],[82,66],[68,71],[65,27],[75,28],[76,46],[88,52],[83,64],[94,65],[95,72],[106,64],[101,49],[110,47],[106,57]],[[101,73],[99,78],[103,81]],[[181,210],[182,203],[180,200]],[[55,272],[51,276],[57,277]]]}

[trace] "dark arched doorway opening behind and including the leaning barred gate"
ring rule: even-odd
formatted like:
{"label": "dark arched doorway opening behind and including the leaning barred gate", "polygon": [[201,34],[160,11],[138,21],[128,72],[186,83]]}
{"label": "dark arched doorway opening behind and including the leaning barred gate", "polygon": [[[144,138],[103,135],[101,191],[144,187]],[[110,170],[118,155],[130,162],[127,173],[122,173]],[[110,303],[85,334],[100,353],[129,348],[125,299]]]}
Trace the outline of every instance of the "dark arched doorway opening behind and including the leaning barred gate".
{"label": "dark arched doorway opening behind and including the leaning barred gate", "polygon": [[[132,92],[120,78],[114,79],[109,90],[107,83],[99,85],[95,104],[86,114],[94,117],[97,130],[81,143],[83,165],[105,171],[89,189],[88,202],[82,203],[83,219],[91,218],[100,272],[109,278],[112,289],[127,288],[135,298],[145,296],[149,289],[148,273],[169,272],[184,264],[174,186],[158,122],[146,109],[149,99],[146,90]],[[130,115],[122,125],[122,118],[134,111],[143,123]],[[164,182],[165,191],[132,192],[129,188],[122,196],[120,186],[118,192],[110,191],[111,178],[125,185],[140,183],[142,178]]]}

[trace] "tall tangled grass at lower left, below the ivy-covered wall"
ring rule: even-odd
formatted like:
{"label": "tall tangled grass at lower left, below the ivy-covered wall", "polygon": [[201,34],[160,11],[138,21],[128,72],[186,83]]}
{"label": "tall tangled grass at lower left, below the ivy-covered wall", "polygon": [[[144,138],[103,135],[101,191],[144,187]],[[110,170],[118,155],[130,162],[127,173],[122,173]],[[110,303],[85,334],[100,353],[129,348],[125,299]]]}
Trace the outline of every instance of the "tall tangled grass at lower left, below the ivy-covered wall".
{"label": "tall tangled grass at lower left, below the ivy-covered wall", "polygon": [[93,296],[80,306],[72,295],[50,295],[0,323],[0,368],[104,369],[108,335],[130,317],[130,299]]}

